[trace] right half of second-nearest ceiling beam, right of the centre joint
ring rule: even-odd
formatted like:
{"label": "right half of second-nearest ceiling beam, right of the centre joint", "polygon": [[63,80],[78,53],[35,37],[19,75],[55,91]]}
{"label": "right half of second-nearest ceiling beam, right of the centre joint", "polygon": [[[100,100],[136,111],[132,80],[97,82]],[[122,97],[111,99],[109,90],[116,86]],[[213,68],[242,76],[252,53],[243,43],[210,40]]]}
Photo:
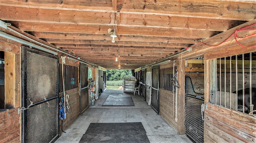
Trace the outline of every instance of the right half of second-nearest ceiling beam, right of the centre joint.
{"label": "right half of second-nearest ceiling beam, right of the centre joint", "polygon": [[149,14],[120,13],[120,25],[146,27],[172,27],[184,29],[207,29],[209,31],[226,31],[243,24],[244,21],[220,20],[210,18],[191,18],[182,16],[163,16]]}

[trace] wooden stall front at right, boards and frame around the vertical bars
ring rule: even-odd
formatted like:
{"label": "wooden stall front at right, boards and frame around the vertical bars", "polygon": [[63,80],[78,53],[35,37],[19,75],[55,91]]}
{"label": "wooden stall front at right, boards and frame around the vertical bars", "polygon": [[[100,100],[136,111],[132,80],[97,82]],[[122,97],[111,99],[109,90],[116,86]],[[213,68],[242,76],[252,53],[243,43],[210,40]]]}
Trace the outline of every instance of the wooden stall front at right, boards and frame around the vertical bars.
{"label": "wooden stall front at right, boards and frame around the vertical bars", "polygon": [[[251,40],[246,39],[247,45],[255,45]],[[216,52],[216,49],[218,52]],[[256,48],[243,48],[239,45],[216,47],[214,51],[209,50],[204,54],[205,63],[205,104],[204,112],[204,141],[205,143],[255,143],[256,142],[256,118],[242,112],[224,108],[210,101],[211,72],[210,59],[238,55],[242,53],[255,52]],[[228,80],[227,80],[228,81]],[[240,83],[242,84],[242,83]]]}

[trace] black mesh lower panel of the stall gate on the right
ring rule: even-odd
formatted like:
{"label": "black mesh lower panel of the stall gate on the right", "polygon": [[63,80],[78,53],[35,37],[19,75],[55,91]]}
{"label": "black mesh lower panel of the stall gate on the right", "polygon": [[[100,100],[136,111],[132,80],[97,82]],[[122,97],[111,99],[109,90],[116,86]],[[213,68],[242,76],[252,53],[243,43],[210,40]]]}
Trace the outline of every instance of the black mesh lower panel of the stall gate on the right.
{"label": "black mesh lower panel of the stall gate on the right", "polygon": [[202,104],[204,104],[203,99],[185,96],[185,134],[196,143],[204,143],[204,121],[201,114]]}

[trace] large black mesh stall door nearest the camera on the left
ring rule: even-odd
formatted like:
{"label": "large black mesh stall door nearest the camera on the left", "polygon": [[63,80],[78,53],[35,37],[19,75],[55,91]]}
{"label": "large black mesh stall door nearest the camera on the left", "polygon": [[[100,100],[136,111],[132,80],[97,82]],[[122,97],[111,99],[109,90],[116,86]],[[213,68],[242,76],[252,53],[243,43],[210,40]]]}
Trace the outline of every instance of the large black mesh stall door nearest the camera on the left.
{"label": "large black mesh stall door nearest the camera on the left", "polygon": [[22,106],[22,142],[58,137],[58,57],[22,47]]}

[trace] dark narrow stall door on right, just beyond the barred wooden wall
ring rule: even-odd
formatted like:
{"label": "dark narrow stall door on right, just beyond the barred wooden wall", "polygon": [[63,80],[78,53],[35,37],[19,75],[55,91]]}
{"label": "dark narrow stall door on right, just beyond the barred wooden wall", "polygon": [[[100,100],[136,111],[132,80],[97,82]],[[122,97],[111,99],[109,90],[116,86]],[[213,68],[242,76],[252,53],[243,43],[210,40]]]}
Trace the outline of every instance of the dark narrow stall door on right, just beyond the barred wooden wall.
{"label": "dark narrow stall door on right, just beyond the barred wooden wall", "polygon": [[152,69],[151,106],[159,114],[159,67]]}

